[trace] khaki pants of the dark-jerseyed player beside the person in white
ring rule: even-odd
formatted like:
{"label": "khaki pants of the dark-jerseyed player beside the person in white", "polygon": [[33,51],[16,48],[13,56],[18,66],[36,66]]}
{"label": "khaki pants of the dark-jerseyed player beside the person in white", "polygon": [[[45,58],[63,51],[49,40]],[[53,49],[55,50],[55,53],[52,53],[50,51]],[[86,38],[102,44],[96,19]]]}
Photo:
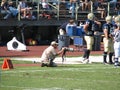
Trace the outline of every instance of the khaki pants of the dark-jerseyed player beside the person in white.
{"label": "khaki pants of the dark-jerseyed player beside the person in white", "polygon": [[113,40],[111,38],[103,38],[104,52],[114,52]]}

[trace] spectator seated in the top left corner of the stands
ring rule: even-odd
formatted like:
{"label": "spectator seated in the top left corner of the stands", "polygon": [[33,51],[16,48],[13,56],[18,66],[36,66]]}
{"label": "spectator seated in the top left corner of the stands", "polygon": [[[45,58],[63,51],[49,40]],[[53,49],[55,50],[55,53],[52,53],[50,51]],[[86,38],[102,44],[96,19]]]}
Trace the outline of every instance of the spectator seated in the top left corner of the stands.
{"label": "spectator seated in the top left corner of the stands", "polygon": [[8,2],[6,0],[1,1],[1,14],[5,15],[3,18],[8,19],[11,17],[11,12],[8,9]]}

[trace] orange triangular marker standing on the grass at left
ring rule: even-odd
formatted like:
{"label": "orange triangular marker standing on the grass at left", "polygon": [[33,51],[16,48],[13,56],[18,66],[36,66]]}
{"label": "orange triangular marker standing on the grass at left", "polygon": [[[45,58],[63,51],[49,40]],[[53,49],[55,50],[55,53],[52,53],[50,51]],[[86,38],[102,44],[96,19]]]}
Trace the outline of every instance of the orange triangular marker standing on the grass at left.
{"label": "orange triangular marker standing on the grass at left", "polygon": [[12,61],[9,58],[4,58],[2,64],[2,70],[8,70],[8,69],[13,69]]}

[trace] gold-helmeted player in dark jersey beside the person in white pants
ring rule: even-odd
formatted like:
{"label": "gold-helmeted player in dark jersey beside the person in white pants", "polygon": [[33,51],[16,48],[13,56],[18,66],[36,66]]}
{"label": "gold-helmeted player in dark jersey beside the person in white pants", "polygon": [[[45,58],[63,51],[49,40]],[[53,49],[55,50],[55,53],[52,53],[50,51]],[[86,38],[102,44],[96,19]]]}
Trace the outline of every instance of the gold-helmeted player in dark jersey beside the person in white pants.
{"label": "gold-helmeted player in dark jersey beside the person in white pants", "polygon": [[112,24],[112,17],[106,17],[106,23],[103,25],[103,44],[104,44],[104,52],[103,52],[103,63],[106,65],[107,63],[107,54],[109,53],[109,64],[113,64],[112,56],[114,54],[113,49],[113,37],[112,32],[114,31],[114,25]]}

